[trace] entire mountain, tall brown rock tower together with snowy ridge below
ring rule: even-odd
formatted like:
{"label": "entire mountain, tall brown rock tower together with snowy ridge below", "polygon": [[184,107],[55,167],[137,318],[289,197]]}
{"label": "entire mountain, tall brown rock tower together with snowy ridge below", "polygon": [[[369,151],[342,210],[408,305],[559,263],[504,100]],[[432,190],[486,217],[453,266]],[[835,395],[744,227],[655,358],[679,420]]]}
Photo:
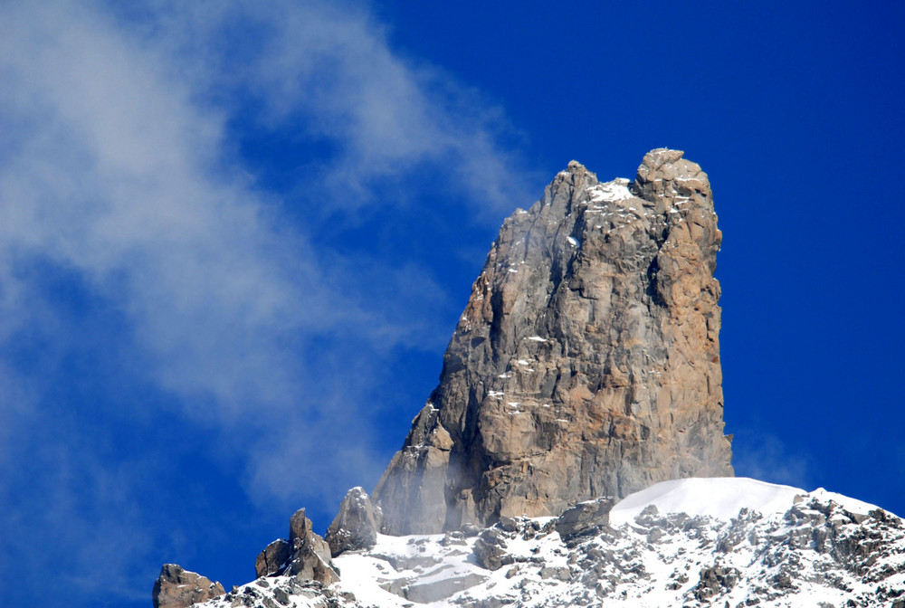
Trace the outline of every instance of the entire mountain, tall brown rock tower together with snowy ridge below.
{"label": "entire mountain, tall brown rock tower together with snowy ridge below", "polygon": [[298,510],[229,593],[164,565],[154,605],[905,608],[900,518],[729,477],[720,239],[680,151],[633,182],[570,162],[503,223],[373,499],[326,538]]}

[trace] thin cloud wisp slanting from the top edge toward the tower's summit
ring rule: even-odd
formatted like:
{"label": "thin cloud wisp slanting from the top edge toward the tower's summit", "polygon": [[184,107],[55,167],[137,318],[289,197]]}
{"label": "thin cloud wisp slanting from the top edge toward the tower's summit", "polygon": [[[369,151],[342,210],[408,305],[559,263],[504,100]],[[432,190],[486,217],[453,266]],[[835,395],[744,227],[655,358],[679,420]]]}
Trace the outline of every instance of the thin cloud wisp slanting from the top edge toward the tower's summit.
{"label": "thin cloud wisp slanting from the top edge toward the tower's summit", "polygon": [[516,135],[502,109],[437,66],[395,52],[364,5],[164,5],[157,23],[186,78],[220,91],[219,100],[230,91],[257,104],[261,128],[329,142],[329,158],[299,161],[319,170],[321,204],[393,204],[376,201],[369,187],[432,165],[472,213],[508,213],[513,200],[535,194],[519,179],[518,156],[498,144],[501,134]]}

